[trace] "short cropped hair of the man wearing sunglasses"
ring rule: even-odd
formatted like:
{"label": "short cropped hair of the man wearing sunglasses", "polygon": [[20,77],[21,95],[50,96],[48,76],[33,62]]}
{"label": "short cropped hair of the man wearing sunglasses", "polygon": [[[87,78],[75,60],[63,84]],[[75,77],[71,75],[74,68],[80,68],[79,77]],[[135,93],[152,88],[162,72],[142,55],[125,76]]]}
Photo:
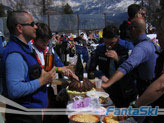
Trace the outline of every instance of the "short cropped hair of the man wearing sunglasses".
{"label": "short cropped hair of the man wearing sunglasses", "polygon": [[11,34],[15,34],[17,24],[24,24],[27,21],[26,11],[12,11],[7,16],[7,28]]}

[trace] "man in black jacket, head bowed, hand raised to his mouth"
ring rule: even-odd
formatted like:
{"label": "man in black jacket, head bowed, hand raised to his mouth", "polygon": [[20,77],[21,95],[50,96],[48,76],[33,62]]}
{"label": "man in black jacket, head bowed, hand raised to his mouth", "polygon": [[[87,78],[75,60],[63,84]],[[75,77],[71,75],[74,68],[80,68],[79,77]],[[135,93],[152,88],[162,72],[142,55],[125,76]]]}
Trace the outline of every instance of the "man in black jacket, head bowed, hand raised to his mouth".
{"label": "man in black jacket, head bowed, hand raised to his mouth", "polygon": [[[128,58],[128,49],[118,44],[119,30],[115,26],[110,25],[103,29],[103,40],[104,43],[94,51],[89,65],[95,76],[107,81],[119,65]],[[99,70],[96,69],[97,66]],[[134,83],[128,81],[128,76],[106,90],[117,107],[128,106],[136,97]],[[122,84],[122,81],[127,83]]]}

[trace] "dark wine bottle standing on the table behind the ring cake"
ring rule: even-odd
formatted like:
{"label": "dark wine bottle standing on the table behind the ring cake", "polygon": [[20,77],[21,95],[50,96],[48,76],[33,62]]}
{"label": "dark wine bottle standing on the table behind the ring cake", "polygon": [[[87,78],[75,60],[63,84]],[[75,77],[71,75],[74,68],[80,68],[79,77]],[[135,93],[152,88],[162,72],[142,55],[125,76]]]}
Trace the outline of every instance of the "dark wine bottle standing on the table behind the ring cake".
{"label": "dark wine bottle standing on the table behind the ring cake", "polygon": [[83,69],[83,64],[81,61],[81,56],[80,56],[80,53],[78,53],[77,63],[75,66],[75,74],[79,77],[80,81],[83,80],[83,72],[84,72],[84,69]]}

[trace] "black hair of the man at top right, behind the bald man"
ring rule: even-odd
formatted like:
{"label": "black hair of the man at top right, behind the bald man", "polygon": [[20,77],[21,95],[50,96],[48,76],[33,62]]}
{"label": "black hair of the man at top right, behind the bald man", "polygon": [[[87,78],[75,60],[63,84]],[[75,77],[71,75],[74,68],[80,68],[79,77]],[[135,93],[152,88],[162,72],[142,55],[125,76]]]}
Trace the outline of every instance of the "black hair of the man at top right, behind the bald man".
{"label": "black hair of the man at top right, behind the bald man", "polygon": [[129,19],[130,20],[133,19],[141,9],[142,9],[141,6],[138,4],[131,4],[130,6],[128,6]]}

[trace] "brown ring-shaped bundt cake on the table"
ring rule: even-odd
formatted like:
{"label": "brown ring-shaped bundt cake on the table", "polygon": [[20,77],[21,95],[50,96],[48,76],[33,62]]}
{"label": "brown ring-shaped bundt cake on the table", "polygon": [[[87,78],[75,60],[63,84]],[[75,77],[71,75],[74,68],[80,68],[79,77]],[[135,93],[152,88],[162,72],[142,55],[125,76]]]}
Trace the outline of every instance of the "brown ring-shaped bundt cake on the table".
{"label": "brown ring-shaped bundt cake on the table", "polygon": [[68,90],[77,92],[87,92],[95,88],[94,84],[88,79],[83,79],[83,82],[73,79],[69,84]]}

